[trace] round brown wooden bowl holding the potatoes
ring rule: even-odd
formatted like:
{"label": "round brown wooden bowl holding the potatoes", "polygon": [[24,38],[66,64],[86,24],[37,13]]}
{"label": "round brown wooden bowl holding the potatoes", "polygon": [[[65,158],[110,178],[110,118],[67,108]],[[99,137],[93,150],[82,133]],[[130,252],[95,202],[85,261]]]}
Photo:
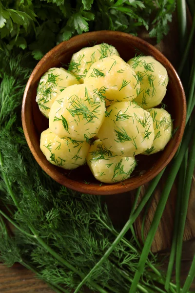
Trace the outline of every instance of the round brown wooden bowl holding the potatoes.
{"label": "round brown wooden bowl holding the potatoes", "polygon": [[[115,184],[101,184],[92,175],[87,166],[75,170],[64,170],[50,164],[39,147],[40,133],[48,128],[48,119],[39,111],[35,101],[37,86],[41,76],[51,67],[65,67],[70,63],[73,53],[83,47],[106,42],[117,48],[122,59],[128,61],[135,54],[151,55],[167,69],[169,84],[163,100],[167,110],[174,119],[174,129],[177,131],[165,149],[159,153],[144,156],[138,155],[137,167],[133,176]],[[85,33],[61,42],[49,51],[33,70],[25,88],[22,102],[22,126],[28,146],[40,167],[60,184],[74,190],[107,195],[126,192],[135,189],[152,180],[171,161],[181,141],[186,119],[186,100],[181,81],[172,64],[154,46],[137,37],[126,33],[113,31],[98,31]]]}

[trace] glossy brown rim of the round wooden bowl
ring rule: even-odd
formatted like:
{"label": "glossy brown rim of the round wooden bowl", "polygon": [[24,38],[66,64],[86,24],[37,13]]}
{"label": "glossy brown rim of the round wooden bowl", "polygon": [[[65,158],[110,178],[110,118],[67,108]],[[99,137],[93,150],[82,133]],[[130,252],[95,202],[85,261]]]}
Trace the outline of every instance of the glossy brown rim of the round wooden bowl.
{"label": "glossy brown rim of the round wooden bowl", "polygon": [[[133,183],[128,183],[128,180],[130,179],[126,179],[124,181],[124,183],[122,182],[118,182],[115,184],[103,184],[102,186],[99,186],[98,184],[85,184],[84,182],[78,182],[78,181],[74,181],[70,178],[68,178],[67,176],[65,176],[63,173],[61,173],[58,170],[51,170],[49,167],[45,166],[45,164],[42,162],[41,158],[39,157],[39,154],[36,151],[36,146],[34,146],[32,140],[31,140],[31,135],[29,134],[28,131],[28,126],[27,126],[27,120],[31,119],[31,117],[26,118],[26,100],[27,100],[27,93],[28,90],[31,86],[31,83],[34,79],[34,76],[37,74],[37,71],[39,70],[39,68],[41,67],[41,64],[48,58],[48,56],[50,56],[51,54],[55,54],[55,52],[57,52],[59,50],[59,48],[62,46],[64,46],[65,44],[68,44],[70,42],[72,42],[72,40],[80,40],[81,38],[85,38],[88,35],[94,36],[95,37],[98,34],[103,34],[103,35],[110,35],[113,36],[114,38],[116,38],[117,36],[122,36],[124,38],[128,38],[131,39],[133,42],[140,42],[142,45],[144,45],[150,52],[151,55],[158,55],[159,58],[164,60],[164,63],[166,63],[167,67],[169,67],[169,69],[173,72],[174,76],[175,76],[175,80],[177,83],[177,86],[179,87],[180,90],[180,103],[182,103],[183,106],[183,112],[182,112],[182,122],[181,125],[179,127],[179,129],[177,130],[177,139],[176,139],[176,143],[174,148],[172,149],[172,151],[170,152],[169,156],[167,157],[166,160],[164,160],[162,162],[162,164],[156,169],[156,171],[154,172],[153,170],[150,170],[149,173],[145,173],[141,176],[137,176],[135,177],[135,179],[137,178],[137,181],[135,180]],[[173,65],[168,61],[168,59],[160,52],[158,51],[153,45],[151,45],[150,43],[132,36],[130,34],[127,33],[123,33],[123,32],[118,32],[118,31],[96,31],[96,32],[88,32],[88,33],[84,33],[82,35],[78,35],[75,36],[73,38],[71,38],[69,41],[64,41],[59,43],[59,45],[55,46],[53,49],[51,49],[40,61],[39,63],[36,65],[36,67],[34,68],[33,72],[30,75],[30,78],[26,84],[26,88],[24,91],[24,95],[23,95],[23,101],[22,101],[22,110],[21,110],[21,118],[22,118],[22,126],[23,126],[23,131],[24,131],[24,135],[27,141],[27,144],[33,154],[33,156],[35,157],[36,161],[38,162],[39,166],[49,175],[51,176],[54,180],[56,180],[57,182],[59,182],[61,185],[66,186],[67,188],[71,188],[74,189],[78,192],[82,192],[82,193],[88,193],[88,194],[96,194],[96,195],[108,195],[108,194],[117,194],[117,193],[122,193],[122,192],[126,192],[135,188],[138,188],[141,185],[144,185],[145,183],[151,181],[154,177],[156,177],[156,175],[162,170],[164,169],[169,162],[172,160],[172,158],[174,157],[176,150],[181,142],[183,133],[184,133],[184,128],[185,128],[185,121],[186,121],[186,99],[185,99],[185,92],[182,86],[182,83],[179,79],[179,76],[175,70],[175,68],[173,67]],[[51,165],[52,166],[52,165]],[[147,175],[147,176],[146,176]]]}

